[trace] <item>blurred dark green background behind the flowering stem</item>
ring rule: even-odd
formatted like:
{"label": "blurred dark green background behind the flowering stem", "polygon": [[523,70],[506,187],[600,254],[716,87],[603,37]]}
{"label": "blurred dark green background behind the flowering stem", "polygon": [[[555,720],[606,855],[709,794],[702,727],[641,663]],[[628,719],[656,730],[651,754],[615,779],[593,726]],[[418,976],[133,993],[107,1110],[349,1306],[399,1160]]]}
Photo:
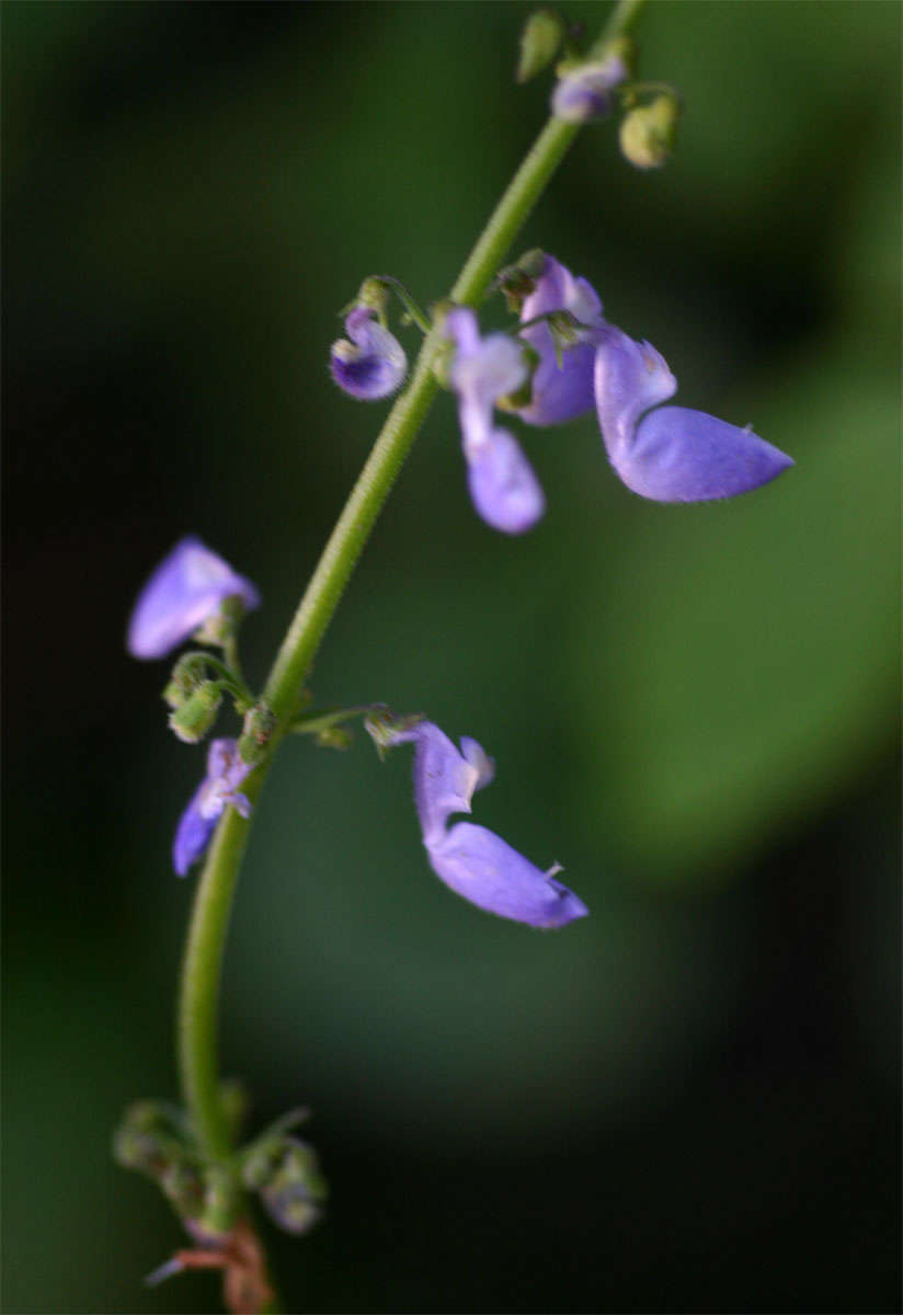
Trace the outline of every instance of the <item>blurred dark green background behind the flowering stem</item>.
{"label": "blurred dark green background behind the flowering stem", "polygon": [[[527,13],[4,7],[9,1311],[218,1308],[142,1287],[179,1230],[108,1149],[176,1091],[204,760],[125,621],[197,531],[263,590],[263,677],[385,412],[333,387],[335,312],[369,272],[448,288],[544,114]],[[659,506],[593,417],[530,431],[549,509],[509,540],[436,405],[313,684],[477,736],[477,819],[593,917],[477,913],[405,753],[287,746],[222,1035],[255,1126],[314,1110],[329,1216],[268,1235],[294,1311],[899,1308],[900,9],[651,4],[637,36],[674,160],[585,132],[519,250],[798,464]]]}

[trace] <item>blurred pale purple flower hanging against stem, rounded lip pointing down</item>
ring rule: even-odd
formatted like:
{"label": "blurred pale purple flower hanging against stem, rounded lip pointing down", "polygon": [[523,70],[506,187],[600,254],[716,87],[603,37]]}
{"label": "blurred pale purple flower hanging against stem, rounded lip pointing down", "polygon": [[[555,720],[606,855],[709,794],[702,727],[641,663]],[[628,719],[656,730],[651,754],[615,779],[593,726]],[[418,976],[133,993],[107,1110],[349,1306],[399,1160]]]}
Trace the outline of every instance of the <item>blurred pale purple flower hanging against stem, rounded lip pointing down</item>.
{"label": "blurred pale purple flower hanging against stem, rounded lip pointing down", "polygon": [[496,402],[527,376],[521,347],[501,333],[481,338],[477,317],[464,306],[448,312],[446,329],[456,348],[450,380],[473,506],[493,529],[522,534],[539,521],[545,498],[515,439],[493,425]]}

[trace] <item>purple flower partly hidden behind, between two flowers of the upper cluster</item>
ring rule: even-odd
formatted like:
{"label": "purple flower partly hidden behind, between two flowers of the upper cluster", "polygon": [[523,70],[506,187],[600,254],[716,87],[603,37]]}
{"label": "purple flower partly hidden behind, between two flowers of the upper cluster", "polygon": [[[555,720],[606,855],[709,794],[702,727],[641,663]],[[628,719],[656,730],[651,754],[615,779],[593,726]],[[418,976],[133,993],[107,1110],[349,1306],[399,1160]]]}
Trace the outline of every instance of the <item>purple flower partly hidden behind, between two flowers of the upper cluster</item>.
{"label": "purple flower partly hidden behind, between two flowers of the upper cluster", "polygon": [[521,310],[521,322],[555,310],[568,310],[586,325],[586,331],[581,342],[561,350],[559,364],[548,323],[521,330],[521,337],[539,352],[530,404],[518,412],[530,425],[561,425],[593,405],[593,362],[598,330],[605,323],[602,302],[586,279],[574,279],[569,270],[547,255],[543,272]]}

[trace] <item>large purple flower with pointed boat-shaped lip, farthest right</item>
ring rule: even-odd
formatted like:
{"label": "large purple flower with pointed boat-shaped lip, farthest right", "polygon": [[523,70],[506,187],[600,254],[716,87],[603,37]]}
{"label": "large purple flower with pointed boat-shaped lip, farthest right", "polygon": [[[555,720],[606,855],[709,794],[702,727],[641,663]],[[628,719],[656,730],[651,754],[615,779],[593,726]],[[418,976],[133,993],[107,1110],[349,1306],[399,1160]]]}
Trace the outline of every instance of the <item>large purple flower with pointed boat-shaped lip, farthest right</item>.
{"label": "large purple flower with pointed boat-shaped lip, farthest right", "polygon": [[659,405],[676,391],[655,347],[606,327],[595,354],[595,405],[609,460],[635,493],[656,502],[706,502],[748,493],[794,464],[749,429]]}

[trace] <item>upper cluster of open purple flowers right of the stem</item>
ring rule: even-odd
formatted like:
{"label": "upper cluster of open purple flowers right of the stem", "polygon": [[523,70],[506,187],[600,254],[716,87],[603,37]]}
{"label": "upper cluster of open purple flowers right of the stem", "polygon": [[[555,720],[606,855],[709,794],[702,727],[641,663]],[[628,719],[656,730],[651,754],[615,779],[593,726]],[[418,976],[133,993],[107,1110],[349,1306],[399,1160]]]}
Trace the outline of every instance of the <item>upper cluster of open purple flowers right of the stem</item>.
{"label": "upper cluster of open purple flowers right of the stem", "polygon": [[[527,281],[514,337],[481,338],[476,314],[465,306],[448,310],[443,325],[468,488],[476,512],[493,529],[522,534],[545,509],[517,439],[496,427],[499,405],[534,426],[561,425],[594,406],[615,473],[634,493],[656,502],[736,497],[793,466],[749,427],[685,406],[662,406],[677,391],[668,364],[651,343],[635,342],[605,320],[586,279],[547,255],[539,275]],[[381,333],[369,346],[381,362],[371,360],[373,377],[380,370],[389,372],[401,351],[388,330]]]}

